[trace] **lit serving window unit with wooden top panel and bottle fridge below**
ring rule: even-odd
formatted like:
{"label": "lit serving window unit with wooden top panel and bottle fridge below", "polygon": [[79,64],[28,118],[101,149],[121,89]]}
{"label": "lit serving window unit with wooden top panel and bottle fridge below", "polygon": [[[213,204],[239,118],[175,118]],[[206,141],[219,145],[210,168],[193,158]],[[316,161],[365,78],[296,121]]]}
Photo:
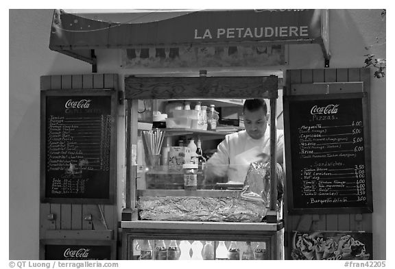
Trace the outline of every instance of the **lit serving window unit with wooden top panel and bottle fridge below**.
{"label": "lit serving window unit with wooden top panel and bottle fridge below", "polygon": [[[176,243],[178,248],[180,245],[181,248],[189,248],[189,256],[186,254],[188,251],[184,251],[183,255],[179,253],[176,256],[178,259],[204,259],[203,248],[208,241],[212,242],[215,250],[222,245],[221,242],[224,242],[227,252],[232,249],[231,245],[237,246],[239,259],[242,259],[248,246],[253,251],[258,250],[257,253],[265,253],[257,254],[259,259],[283,259],[283,219],[277,204],[276,143],[273,140],[270,140],[270,193],[274,195],[270,195],[270,203],[261,206],[241,198],[243,185],[231,185],[226,181],[206,185],[201,167],[196,172],[196,190],[186,190],[183,166],[178,170],[171,168],[170,164],[153,162],[153,152],[158,152],[152,151],[153,148],[147,149],[147,138],[143,130],[138,129],[139,112],[143,111],[139,110],[139,104],[149,103],[143,100],[154,100],[150,105],[157,110],[155,100],[198,99],[209,103],[211,99],[219,107],[221,99],[228,98],[232,102],[225,101],[227,106],[242,107],[243,101],[235,100],[265,98],[270,102],[270,136],[274,138],[277,87],[277,77],[274,76],[125,79],[127,169],[126,206],[121,222],[123,259],[155,259],[160,257],[160,253],[155,251],[157,246],[163,248],[165,245],[168,249],[171,242]],[[173,145],[179,138],[199,138],[212,146],[230,132],[232,130],[229,129],[202,130],[191,127],[156,130],[156,134],[163,136],[162,140],[168,139]],[[160,141],[160,138],[153,136]],[[214,259],[229,258],[217,254],[213,253]]]}

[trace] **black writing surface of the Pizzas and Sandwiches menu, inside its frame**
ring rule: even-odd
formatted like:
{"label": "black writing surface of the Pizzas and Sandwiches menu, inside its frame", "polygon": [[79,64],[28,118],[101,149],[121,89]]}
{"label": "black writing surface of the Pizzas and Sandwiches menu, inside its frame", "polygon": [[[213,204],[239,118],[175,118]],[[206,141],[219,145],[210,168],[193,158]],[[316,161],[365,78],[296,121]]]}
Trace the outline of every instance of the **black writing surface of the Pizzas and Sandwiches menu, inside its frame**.
{"label": "black writing surface of the Pizzas and Sandwiches menu, inside its frame", "polygon": [[290,103],[294,206],[367,203],[361,99]]}

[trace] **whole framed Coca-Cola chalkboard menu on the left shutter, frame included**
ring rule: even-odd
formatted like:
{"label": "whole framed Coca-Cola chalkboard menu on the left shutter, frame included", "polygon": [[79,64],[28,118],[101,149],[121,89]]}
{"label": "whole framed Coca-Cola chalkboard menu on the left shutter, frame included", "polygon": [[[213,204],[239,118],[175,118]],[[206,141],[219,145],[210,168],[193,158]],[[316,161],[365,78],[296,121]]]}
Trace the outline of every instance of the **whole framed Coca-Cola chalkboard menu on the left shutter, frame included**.
{"label": "whole framed Coca-Cola chalkboard menu on the left shutter, frame included", "polygon": [[41,92],[41,196],[58,203],[113,203],[116,95]]}

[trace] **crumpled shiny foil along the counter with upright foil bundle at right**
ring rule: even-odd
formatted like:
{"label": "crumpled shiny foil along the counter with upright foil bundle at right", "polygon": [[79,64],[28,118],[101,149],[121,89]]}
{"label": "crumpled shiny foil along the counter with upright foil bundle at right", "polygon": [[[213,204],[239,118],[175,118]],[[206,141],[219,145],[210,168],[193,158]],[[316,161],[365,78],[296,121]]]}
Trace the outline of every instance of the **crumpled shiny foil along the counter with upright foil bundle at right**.
{"label": "crumpled shiny foil along the counter with upright foil bundle at right", "polygon": [[[278,200],[283,168],[276,166]],[[270,164],[252,163],[239,197],[140,196],[141,220],[261,222],[270,205]]]}

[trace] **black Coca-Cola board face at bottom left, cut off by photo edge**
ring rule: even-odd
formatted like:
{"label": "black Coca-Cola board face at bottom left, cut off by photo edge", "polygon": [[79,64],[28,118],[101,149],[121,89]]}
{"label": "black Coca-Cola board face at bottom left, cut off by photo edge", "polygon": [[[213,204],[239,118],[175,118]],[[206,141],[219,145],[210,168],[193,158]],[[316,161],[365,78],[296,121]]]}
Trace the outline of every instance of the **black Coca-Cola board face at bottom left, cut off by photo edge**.
{"label": "black Coca-Cola board face at bottom left, cut off by photo edge", "polygon": [[103,260],[116,259],[115,241],[104,240],[45,240],[44,259],[48,260]]}

